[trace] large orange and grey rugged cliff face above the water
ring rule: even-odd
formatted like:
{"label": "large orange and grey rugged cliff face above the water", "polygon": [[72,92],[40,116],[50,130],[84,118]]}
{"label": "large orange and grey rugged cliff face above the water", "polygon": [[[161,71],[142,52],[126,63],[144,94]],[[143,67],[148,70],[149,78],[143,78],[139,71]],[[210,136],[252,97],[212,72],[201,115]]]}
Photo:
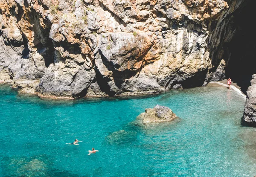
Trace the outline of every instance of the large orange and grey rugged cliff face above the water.
{"label": "large orange and grey rugged cliff face above the water", "polygon": [[0,79],[39,96],[154,94],[225,77],[245,0],[0,0]]}

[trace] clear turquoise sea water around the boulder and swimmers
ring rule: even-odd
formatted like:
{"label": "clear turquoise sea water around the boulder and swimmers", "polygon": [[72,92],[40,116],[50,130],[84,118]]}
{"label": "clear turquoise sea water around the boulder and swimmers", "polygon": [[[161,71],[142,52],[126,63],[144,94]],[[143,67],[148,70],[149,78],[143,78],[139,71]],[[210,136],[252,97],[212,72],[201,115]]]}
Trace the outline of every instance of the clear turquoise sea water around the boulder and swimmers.
{"label": "clear turquoise sea water around the boulder and swimmers", "polygon": [[[253,177],[256,129],[240,124],[244,101],[222,86],[54,101],[2,85],[0,176]],[[136,121],[156,104],[180,118]],[[99,152],[87,156],[92,147]]]}

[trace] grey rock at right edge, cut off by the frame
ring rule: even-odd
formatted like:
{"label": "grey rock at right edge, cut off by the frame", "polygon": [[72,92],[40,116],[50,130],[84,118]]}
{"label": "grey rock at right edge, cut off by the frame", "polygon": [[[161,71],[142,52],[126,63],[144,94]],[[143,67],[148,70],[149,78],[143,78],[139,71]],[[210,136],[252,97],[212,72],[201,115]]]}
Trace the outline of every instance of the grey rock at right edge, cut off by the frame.
{"label": "grey rock at right edge, cut off by the frame", "polygon": [[251,86],[247,90],[242,124],[256,127],[256,74],[252,78]]}

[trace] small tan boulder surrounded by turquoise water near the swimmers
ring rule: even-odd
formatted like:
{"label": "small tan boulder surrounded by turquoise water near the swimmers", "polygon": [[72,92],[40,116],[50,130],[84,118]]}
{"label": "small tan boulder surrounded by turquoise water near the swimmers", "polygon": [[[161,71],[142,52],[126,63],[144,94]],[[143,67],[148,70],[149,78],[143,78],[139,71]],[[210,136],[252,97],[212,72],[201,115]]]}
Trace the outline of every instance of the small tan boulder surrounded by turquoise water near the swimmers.
{"label": "small tan boulder surrounded by turquoise water near the swimmers", "polygon": [[166,122],[177,118],[169,107],[156,105],[153,109],[145,109],[145,113],[141,113],[138,119],[143,119],[143,124],[151,122]]}

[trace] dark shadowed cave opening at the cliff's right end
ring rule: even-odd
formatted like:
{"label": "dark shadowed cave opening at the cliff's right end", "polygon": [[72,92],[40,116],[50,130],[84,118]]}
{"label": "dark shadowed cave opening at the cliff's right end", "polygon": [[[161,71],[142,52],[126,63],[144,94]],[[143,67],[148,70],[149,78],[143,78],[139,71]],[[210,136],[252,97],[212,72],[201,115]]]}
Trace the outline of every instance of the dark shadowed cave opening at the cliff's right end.
{"label": "dark shadowed cave opening at the cliff's right end", "polygon": [[246,94],[250,80],[256,73],[256,35],[252,26],[255,19],[256,1],[247,0],[241,9],[234,14],[236,33],[227,44],[230,59],[227,63],[226,77],[236,82]]}

